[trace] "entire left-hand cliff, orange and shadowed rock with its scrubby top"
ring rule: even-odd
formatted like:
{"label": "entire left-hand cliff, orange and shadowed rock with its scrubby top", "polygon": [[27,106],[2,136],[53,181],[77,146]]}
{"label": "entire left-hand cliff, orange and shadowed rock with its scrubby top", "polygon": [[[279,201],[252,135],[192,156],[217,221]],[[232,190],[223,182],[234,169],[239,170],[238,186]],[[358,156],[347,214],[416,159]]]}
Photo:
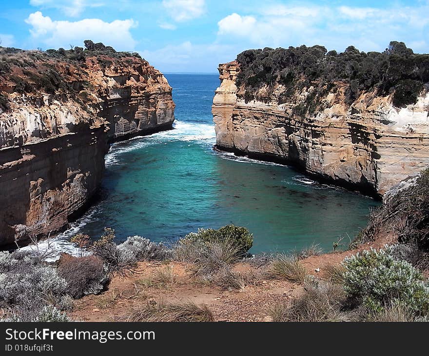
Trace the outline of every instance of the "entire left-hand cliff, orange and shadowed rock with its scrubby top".
{"label": "entire left-hand cliff, orange and shadowed rock with its scrubby top", "polygon": [[172,127],[162,73],[137,54],[96,45],[0,47],[0,245],[56,232],[84,209],[108,142]]}

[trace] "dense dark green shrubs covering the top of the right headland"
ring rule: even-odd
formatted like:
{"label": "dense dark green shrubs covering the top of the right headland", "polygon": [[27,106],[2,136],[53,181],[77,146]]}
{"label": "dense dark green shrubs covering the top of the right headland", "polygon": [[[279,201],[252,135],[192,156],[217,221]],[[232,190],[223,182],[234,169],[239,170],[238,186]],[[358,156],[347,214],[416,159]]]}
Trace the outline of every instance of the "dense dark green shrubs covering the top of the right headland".
{"label": "dense dark green shrubs covering the top of the right headland", "polygon": [[[320,99],[345,86],[350,105],[362,92],[393,93],[393,104],[413,104],[429,82],[429,55],[415,54],[403,42],[392,41],[384,52],[360,52],[353,46],[344,52],[327,51],[323,46],[252,49],[237,56],[240,73],[237,87],[245,86],[245,99],[254,99],[267,85],[269,95],[275,84],[285,86],[280,103],[304,87],[313,87],[297,114],[314,112]],[[258,98],[264,99],[264,98]]]}

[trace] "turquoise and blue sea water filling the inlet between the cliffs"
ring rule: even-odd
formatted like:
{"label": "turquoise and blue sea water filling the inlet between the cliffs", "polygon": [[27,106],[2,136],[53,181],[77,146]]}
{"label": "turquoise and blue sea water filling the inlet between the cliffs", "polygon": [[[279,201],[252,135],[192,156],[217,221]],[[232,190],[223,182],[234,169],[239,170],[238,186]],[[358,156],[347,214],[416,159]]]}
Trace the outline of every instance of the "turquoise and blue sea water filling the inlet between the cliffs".
{"label": "turquoise and blue sea water filling the inlet between the cliffs", "polygon": [[175,129],[112,146],[102,198],[64,236],[174,240],[228,223],[254,234],[252,252],[290,251],[353,237],[378,205],[316,183],[292,169],[217,153],[211,105],[218,75],[166,74],[176,102]]}

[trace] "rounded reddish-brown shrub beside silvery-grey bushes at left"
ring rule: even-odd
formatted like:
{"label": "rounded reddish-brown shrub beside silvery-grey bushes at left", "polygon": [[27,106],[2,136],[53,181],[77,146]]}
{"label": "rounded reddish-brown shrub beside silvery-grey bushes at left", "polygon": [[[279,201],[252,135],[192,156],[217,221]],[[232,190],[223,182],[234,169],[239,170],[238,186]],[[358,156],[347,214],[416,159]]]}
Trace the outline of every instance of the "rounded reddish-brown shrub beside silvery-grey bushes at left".
{"label": "rounded reddish-brown shrub beside silvery-grey bushes at left", "polygon": [[75,299],[100,293],[109,281],[104,263],[97,256],[61,257],[58,274],[67,282],[67,294]]}

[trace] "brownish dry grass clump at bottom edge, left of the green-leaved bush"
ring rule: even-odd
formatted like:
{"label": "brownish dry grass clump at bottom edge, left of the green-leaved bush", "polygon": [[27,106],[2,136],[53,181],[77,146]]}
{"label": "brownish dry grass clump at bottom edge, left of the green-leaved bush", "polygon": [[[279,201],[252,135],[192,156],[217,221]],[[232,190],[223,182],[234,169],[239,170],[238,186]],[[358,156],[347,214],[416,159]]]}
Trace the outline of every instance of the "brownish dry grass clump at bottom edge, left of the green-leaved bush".
{"label": "brownish dry grass clump at bottom edge, left of the green-leaved bush", "polygon": [[346,295],[341,285],[329,281],[310,281],[304,291],[289,301],[281,301],[268,310],[273,321],[318,322],[352,321],[356,316],[343,310]]}

